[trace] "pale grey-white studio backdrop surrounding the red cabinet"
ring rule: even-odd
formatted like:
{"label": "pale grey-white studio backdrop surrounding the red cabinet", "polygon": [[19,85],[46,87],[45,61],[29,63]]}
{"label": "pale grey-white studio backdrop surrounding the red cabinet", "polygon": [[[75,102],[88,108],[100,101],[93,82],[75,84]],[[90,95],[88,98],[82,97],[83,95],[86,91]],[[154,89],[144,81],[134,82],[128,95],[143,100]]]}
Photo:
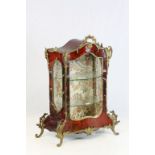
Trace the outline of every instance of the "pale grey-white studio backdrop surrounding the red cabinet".
{"label": "pale grey-white studio backdrop surrounding the red cabinet", "polygon": [[[27,0],[27,152],[28,154],[128,154],[128,0]],[[45,47],[59,47],[69,39],[94,35],[113,56],[108,76],[108,109],[121,120],[115,137],[101,130],[93,136],[68,136],[56,148],[55,133],[39,132],[39,117],[49,111]],[[123,147],[122,147],[123,146]],[[113,149],[111,149],[113,148]],[[58,150],[59,149],[59,150]],[[38,153],[39,152],[39,153]]]}

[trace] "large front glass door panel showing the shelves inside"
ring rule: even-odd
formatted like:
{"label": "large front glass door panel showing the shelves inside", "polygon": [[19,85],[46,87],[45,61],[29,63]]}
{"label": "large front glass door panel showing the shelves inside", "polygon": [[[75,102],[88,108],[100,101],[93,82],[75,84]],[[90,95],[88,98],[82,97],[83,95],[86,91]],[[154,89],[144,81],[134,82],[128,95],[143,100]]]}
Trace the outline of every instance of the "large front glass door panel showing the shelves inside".
{"label": "large front glass door panel showing the shelves inside", "polygon": [[70,62],[70,118],[97,117],[103,106],[102,58],[87,54]]}

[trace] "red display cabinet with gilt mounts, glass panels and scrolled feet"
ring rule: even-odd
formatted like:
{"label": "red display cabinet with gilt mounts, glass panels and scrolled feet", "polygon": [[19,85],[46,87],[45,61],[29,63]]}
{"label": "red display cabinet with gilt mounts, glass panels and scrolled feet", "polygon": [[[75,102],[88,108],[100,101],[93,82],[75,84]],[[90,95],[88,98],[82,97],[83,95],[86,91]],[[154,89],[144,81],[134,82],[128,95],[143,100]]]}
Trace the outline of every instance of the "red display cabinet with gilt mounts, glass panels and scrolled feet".
{"label": "red display cabinet with gilt mounts, glass panels and scrolled feet", "polygon": [[107,111],[107,74],[112,48],[103,47],[93,36],[72,39],[60,48],[45,51],[49,70],[49,114],[40,117],[38,127],[55,131],[60,138],[71,133],[90,135],[99,128],[114,134],[119,123],[114,111]]}

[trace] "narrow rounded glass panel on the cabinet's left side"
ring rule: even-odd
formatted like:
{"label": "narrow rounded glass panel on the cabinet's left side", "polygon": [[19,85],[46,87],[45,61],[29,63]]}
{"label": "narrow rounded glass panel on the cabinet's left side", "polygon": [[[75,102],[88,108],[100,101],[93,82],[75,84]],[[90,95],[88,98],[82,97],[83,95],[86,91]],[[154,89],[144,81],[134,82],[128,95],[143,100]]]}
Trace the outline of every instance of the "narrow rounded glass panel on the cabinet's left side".
{"label": "narrow rounded glass panel on the cabinet's left side", "polygon": [[62,108],[62,65],[56,60],[53,65],[53,97],[54,97],[54,105],[59,112]]}

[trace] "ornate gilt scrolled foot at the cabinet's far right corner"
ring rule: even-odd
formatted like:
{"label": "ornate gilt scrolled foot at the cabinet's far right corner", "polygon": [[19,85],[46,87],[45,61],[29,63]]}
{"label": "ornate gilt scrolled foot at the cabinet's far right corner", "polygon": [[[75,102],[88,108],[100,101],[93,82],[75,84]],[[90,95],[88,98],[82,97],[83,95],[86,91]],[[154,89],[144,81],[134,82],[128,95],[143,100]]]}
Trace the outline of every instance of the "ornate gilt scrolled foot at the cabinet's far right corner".
{"label": "ornate gilt scrolled foot at the cabinet's far right corner", "polygon": [[115,126],[120,122],[117,120],[117,115],[114,111],[111,111],[110,114],[108,114],[108,116],[112,120],[112,125],[109,125],[109,128],[112,130],[114,135],[119,135],[119,133],[115,131]]}

